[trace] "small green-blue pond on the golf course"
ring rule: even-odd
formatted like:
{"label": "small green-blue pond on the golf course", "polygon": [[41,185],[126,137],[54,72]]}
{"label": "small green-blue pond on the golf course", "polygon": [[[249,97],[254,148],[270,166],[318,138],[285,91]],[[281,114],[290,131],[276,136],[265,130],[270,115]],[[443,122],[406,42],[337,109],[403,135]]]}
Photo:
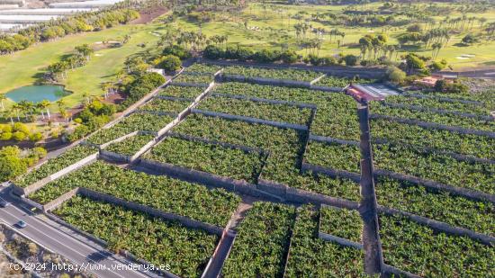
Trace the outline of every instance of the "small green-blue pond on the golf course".
{"label": "small green-blue pond on the golf course", "polygon": [[68,94],[70,93],[64,90],[64,87],[61,85],[27,85],[14,89],[5,94],[5,96],[15,103],[23,100],[39,103],[42,100],[55,102]]}

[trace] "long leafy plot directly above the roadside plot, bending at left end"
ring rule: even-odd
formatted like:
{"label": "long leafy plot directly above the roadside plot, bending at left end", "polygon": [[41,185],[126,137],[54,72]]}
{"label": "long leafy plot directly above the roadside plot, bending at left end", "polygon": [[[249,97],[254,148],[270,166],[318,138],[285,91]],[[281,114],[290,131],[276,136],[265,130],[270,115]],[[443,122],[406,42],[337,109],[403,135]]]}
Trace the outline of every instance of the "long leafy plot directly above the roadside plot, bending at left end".
{"label": "long leafy plot directly above the roadside plot, bending at left end", "polygon": [[100,161],[47,184],[29,197],[46,204],[76,187],[219,226],[227,224],[239,202],[237,195],[221,189],[208,190],[199,184],[147,175]]}

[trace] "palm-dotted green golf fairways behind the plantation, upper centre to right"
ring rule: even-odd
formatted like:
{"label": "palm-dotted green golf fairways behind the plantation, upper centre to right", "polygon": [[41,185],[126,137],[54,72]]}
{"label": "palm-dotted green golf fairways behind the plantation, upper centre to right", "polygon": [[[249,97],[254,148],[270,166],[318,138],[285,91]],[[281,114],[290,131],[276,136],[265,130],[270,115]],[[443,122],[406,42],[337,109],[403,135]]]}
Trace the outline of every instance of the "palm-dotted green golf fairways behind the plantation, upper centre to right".
{"label": "palm-dotted green golf fairways behind the plantation, upper centre to right", "polygon": [[[380,4],[367,4],[367,8],[375,7]],[[291,48],[296,48],[297,39],[295,38],[295,30],[293,25],[297,20],[289,19],[289,14],[295,14],[300,11],[307,13],[323,13],[328,11],[342,10],[344,5],[276,5],[275,9],[266,10],[262,4],[250,4],[242,13],[215,13],[215,19],[211,22],[206,22],[202,26],[202,32],[208,36],[214,34],[226,34],[229,36],[229,44],[250,47],[254,49],[272,48],[281,49],[283,43],[288,43]],[[487,18],[488,22],[495,22],[495,11],[489,13],[466,13],[467,16],[478,16]],[[453,13],[451,17],[462,16],[461,13]],[[442,17],[438,17],[440,21]],[[257,27],[259,30],[248,30],[244,27],[244,22],[247,21],[248,28]],[[487,23],[488,23],[487,22]],[[309,22],[312,27],[323,27],[326,30],[337,28],[339,31],[344,31],[346,36],[341,40],[341,47],[338,48],[337,40],[329,41],[329,36],[323,37],[324,43],[320,49],[320,55],[333,55],[338,53],[360,54],[360,49],[353,47],[358,40],[368,33],[385,33],[388,35],[391,44],[397,44],[395,36],[405,31],[405,27],[343,27],[343,26],[325,26],[320,22]],[[487,24],[485,23],[485,24]],[[455,70],[468,69],[473,67],[493,66],[495,60],[495,41],[482,42],[471,47],[455,46],[460,42],[466,33],[480,30],[480,23],[474,22],[473,30],[466,30],[449,40],[446,49],[441,49],[438,59],[446,58],[448,63]],[[199,25],[180,18],[177,22],[171,24],[174,28],[185,30],[199,30]],[[306,34],[306,38],[316,38],[313,33]],[[303,49],[296,49],[301,54],[307,54]],[[431,49],[419,49],[419,55],[431,56]],[[400,53],[401,54],[401,53]],[[474,54],[473,58],[459,58],[464,54]],[[395,56],[395,55],[394,55]]]}

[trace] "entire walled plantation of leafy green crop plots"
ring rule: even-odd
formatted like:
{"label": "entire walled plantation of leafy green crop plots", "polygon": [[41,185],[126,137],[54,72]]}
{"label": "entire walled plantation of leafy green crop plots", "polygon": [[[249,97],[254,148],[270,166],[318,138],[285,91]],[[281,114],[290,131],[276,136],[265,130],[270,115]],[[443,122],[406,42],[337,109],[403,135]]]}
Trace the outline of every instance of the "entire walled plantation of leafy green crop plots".
{"label": "entire walled plantation of leafy green crop plots", "polygon": [[[175,81],[202,83],[209,78],[210,83],[221,68],[224,75],[304,82],[321,76],[311,70],[195,64]],[[357,211],[362,157],[356,101],[343,93],[219,80],[196,110],[177,121],[173,115],[206,87],[168,85],[139,112],[87,139],[102,145],[141,131],[105,148],[125,156],[155,139],[134,163],[115,165],[100,157],[28,197],[48,206],[85,188],[141,206],[134,208],[144,206],[225,231],[220,238],[221,232],[199,224],[186,227],[141,209],[96,202],[84,190],[54,209],[112,248],[127,249],[151,263],[184,264],[171,267],[184,277],[365,277],[369,251],[361,247],[369,240],[363,230],[370,224],[364,220],[373,215]],[[348,81],[328,76],[321,82],[339,86]],[[491,98],[413,93],[370,104],[376,213],[386,272],[491,277],[495,142],[493,120],[486,118]],[[170,122],[171,130],[159,136],[142,132],[157,132]],[[74,160],[81,156],[75,154]],[[31,184],[65,166],[55,159],[53,167],[47,166],[50,170],[19,183]],[[82,211],[87,216],[78,219]],[[216,247],[229,251],[211,258]],[[222,256],[224,261],[216,261]],[[210,259],[211,265],[223,267],[209,269]]]}

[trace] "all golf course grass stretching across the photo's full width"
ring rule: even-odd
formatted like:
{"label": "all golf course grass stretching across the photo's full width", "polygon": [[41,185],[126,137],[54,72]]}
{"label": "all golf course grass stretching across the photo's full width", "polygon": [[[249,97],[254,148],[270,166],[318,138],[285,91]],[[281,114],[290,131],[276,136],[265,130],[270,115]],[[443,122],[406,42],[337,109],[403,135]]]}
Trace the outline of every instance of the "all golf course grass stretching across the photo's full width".
{"label": "all golf course grass stretching across the photo's full width", "polygon": [[[366,8],[376,7],[378,4],[366,4]],[[287,43],[292,49],[296,49],[301,54],[307,54],[306,50],[298,49],[298,39],[295,36],[293,25],[297,20],[289,18],[300,11],[305,11],[306,16],[316,12],[340,11],[344,5],[272,5],[273,8],[266,9],[262,4],[250,4],[241,12],[217,12],[214,19],[202,25],[202,32],[207,36],[215,34],[226,34],[229,36],[229,45],[240,45],[254,49],[272,48],[281,49]],[[455,16],[459,16],[455,14]],[[490,13],[467,13],[467,16],[484,16],[488,22],[495,21],[495,11]],[[453,15],[451,15],[453,16]],[[438,21],[441,17],[438,17]],[[244,26],[247,21],[249,30]],[[487,23],[488,23],[487,22]],[[390,29],[378,28],[347,28],[342,26],[324,26],[320,22],[309,22],[313,27],[324,27],[327,30],[338,28],[344,31],[346,36],[341,41],[338,48],[337,42],[329,41],[329,36],[324,36],[324,42],[320,49],[320,55],[333,55],[338,53],[359,54],[360,50],[351,44],[356,43],[359,38],[367,33],[386,33],[389,43],[396,43],[394,36],[404,31],[404,28],[392,27]],[[487,24],[485,23],[485,24]],[[479,30],[479,23],[474,23],[474,31]],[[163,23],[152,22],[139,25],[122,25],[112,29],[86,32],[67,36],[59,40],[39,43],[29,49],[16,52],[12,55],[0,56],[0,94],[4,94],[11,89],[23,85],[31,85],[37,80],[37,76],[50,63],[56,62],[62,55],[70,53],[75,46],[102,40],[121,40],[124,35],[130,34],[130,41],[119,49],[103,49],[97,51],[91,61],[84,67],[79,67],[68,73],[68,77],[62,80],[67,86],[67,90],[73,91],[65,97],[69,106],[74,106],[83,101],[82,94],[101,95],[103,90],[100,85],[112,79],[112,76],[122,68],[123,61],[132,53],[144,49],[138,46],[141,42],[147,43],[147,48],[153,49],[157,41],[157,36],[151,31],[165,33],[166,28],[175,30],[199,31],[200,27],[196,22],[190,22],[185,18],[179,18],[167,26]],[[458,47],[454,44],[459,42],[465,33],[458,34],[449,41],[446,49],[441,49],[438,58],[446,58],[455,70],[473,67],[494,66],[495,62],[495,41],[484,42],[472,47]],[[314,38],[313,33],[306,34],[307,38]],[[420,49],[419,54],[431,56],[431,49]],[[464,54],[474,54],[472,58],[459,58]],[[395,55],[394,55],[395,56]],[[12,103],[7,103],[7,106]],[[53,105],[52,109],[56,109]]]}

